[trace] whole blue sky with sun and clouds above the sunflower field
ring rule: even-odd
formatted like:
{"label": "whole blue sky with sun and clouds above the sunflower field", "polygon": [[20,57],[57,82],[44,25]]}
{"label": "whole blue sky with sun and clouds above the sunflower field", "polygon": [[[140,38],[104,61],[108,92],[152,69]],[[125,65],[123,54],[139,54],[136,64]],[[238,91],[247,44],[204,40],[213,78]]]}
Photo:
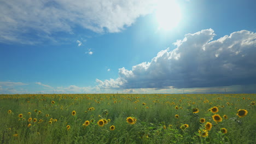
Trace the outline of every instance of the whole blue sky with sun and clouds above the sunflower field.
{"label": "whole blue sky with sun and clouds above the sunflower field", "polygon": [[0,94],[256,93],[255,5],[0,0]]}

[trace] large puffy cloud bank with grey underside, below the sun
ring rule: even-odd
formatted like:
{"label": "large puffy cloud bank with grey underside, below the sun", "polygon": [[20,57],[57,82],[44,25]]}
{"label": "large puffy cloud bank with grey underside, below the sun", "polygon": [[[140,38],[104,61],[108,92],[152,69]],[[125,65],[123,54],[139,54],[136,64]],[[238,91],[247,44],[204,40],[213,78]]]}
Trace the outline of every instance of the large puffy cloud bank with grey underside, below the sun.
{"label": "large puffy cloud bank with grey underside, below the sun", "polygon": [[194,88],[256,83],[256,33],[238,31],[213,40],[213,29],[185,34],[176,49],[151,62],[119,69],[118,79],[98,80],[100,88]]}

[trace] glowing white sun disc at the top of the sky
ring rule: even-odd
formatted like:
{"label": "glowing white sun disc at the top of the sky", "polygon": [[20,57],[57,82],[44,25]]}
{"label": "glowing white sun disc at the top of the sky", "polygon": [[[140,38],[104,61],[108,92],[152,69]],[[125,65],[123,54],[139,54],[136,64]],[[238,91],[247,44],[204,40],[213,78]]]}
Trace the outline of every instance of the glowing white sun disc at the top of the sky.
{"label": "glowing white sun disc at the top of the sky", "polygon": [[155,15],[159,28],[165,31],[170,31],[177,27],[182,16],[181,9],[174,0],[159,1]]}

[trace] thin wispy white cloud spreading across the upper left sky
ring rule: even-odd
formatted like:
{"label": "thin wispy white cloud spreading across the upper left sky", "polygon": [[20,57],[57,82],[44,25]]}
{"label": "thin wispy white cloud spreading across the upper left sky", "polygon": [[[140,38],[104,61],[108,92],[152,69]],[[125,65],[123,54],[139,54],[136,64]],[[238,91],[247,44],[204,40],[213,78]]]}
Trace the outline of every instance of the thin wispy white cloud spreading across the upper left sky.
{"label": "thin wispy white cloud spreading across the upper left sky", "polygon": [[[80,26],[97,33],[120,32],[152,13],[155,0],[14,0],[0,2],[0,43],[36,43],[55,32]],[[25,37],[33,33],[33,38]]]}

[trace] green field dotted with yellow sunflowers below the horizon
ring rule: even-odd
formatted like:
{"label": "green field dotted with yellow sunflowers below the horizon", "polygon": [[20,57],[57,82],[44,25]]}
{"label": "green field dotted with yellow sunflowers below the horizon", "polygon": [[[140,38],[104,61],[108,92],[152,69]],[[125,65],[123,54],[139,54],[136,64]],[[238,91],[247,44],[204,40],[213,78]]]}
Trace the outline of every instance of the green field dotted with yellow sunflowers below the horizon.
{"label": "green field dotted with yellow sunflowers below the horizon", "polygon": [[255,143],[256,94],[1,94],[1,143]]}

